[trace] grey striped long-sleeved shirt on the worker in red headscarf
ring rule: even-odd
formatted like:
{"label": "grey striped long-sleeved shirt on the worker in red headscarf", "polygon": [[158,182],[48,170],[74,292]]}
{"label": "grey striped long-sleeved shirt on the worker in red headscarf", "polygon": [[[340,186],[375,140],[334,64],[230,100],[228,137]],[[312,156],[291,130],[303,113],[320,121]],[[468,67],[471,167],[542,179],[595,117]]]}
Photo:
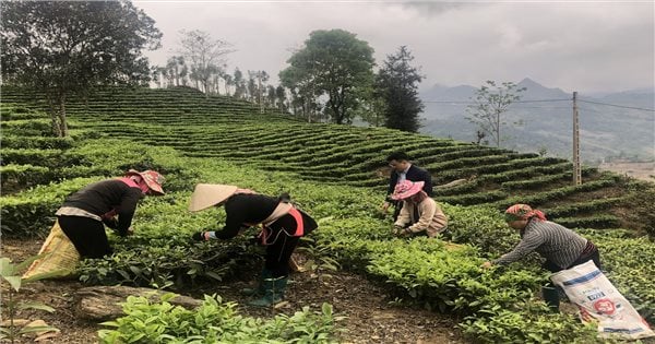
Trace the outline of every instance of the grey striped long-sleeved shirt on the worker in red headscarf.
{"label": "grey striped long-sleeved shirt on the worker in red headscarf", "polygon": [[549,221],[533,220],[521,233],[521,242],[493,263],[509,264],[536,251],[558,266],[567,269],[580,258],[586,244],[587,239],[567,227]]}

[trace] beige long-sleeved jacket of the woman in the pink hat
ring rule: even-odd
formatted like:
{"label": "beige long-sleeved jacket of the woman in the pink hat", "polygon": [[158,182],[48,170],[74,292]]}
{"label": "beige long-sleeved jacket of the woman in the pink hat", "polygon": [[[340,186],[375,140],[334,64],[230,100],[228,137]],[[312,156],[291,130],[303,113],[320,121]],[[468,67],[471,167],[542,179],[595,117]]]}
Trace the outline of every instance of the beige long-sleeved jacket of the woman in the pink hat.
{"label": "beige long-sleeved jacket of the woman in the pink hat", "polygon": [[[415,207],[418,209],[419,218],[414,218]],[[439,204],[431,198],[426,198],[418,204],[405,201],[403,202],[403,207],[401,209],[395,225],[405,227],[408,224],[410,225],[408,229],[412,233],[425,230],[428,237],[433,238],[445,229],[448,226],[448,217],[445,217]]]}

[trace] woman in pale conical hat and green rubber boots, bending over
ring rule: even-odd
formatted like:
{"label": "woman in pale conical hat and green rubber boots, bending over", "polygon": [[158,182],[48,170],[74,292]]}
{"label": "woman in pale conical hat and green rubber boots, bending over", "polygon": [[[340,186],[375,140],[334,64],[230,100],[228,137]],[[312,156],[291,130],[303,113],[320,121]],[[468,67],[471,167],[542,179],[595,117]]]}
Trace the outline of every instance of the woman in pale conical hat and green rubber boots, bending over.
{"label": "woman in pale conical hat and green rubber boots, bending over", "polygon": [[189,210],[198,212],[221,205],[225,206],[226,213],[223,229],[199,232],[193,239],[229,239],[237,236],[240,229],[261,225],[259,238],[266,246],[264,269],[258,288],[246,293],[260,297],[250,303],[252,306],[266,307],[279,303],[288,280],[291,253],[300,237],[318,227],[317,222],[296,209],[288,195],[273,198],[226,185],[196,185]]}

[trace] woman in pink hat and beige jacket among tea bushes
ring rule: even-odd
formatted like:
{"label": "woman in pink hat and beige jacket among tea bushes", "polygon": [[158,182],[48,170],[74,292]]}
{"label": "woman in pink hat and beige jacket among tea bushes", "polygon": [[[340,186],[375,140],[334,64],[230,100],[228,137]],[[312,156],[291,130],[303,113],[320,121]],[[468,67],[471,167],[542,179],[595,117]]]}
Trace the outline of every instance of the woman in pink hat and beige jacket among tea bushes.
{"label": "woman in pink hat and beige jacket among tea bushes", "polygon": [[448,217],[422,187],[422,181],[407,179],[396,185],[391,198],[403,201],[403,207],[394,223],[394,233],[397,236],[425,233],[433,238],[448,227]]}

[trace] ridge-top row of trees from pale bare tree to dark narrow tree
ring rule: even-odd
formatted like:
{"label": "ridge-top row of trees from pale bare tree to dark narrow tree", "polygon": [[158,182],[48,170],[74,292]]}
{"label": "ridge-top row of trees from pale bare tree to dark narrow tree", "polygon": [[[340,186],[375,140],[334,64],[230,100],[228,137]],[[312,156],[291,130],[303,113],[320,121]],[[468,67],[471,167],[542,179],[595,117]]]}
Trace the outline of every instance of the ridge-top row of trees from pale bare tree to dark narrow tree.
{"label": "ridge-top row of trees from pale bare tree to dark narrow tree", "polygon": [[191,86],[207,96],[228,95],[275,107],[307,121],[350,123],[359,117],[372,126],[417,131],[422,104],[417,86],[422,76],[412,67],[405,46],[388,56],[378,73],[373,49],[343,29],[314,31],[279,72],[281,83],[269,84],[266,71],[227,71],[231,45],[202,31],[180,32],[176,55],[166,66],[153,67],[159,87]]}

